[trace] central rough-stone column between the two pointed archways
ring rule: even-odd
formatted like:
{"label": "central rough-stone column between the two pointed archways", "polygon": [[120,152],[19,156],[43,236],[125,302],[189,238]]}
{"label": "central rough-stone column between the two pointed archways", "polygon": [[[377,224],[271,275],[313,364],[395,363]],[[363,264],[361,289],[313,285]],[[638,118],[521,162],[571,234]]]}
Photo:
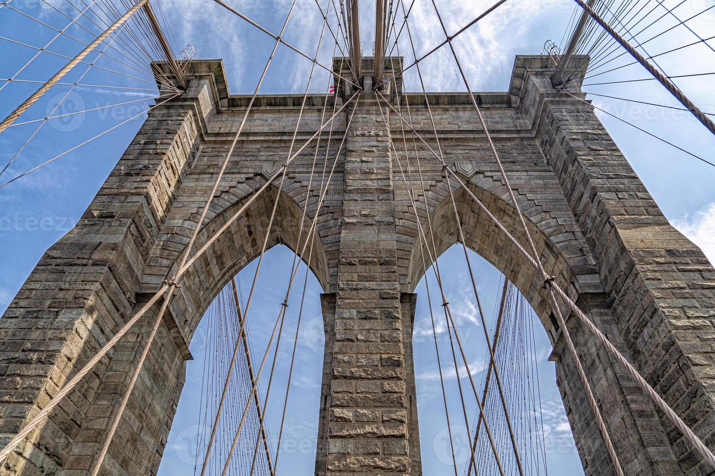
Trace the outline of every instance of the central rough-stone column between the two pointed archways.
{"label": "central rough-stone column between the two pointed archways", "polygon": [[316,475],[421,474],[414,299],[400,299],[386,114],[374,94],[363,94],[347,131],[337,293],[322,300],[326,354]]}

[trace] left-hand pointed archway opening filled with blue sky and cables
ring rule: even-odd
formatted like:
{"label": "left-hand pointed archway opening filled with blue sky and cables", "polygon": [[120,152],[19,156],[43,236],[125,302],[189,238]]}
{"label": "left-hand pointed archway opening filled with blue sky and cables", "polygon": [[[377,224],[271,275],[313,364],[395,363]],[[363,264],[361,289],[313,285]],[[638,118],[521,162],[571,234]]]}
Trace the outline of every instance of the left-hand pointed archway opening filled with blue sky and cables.
{"label": "left-hand pointed archway opening filled with blue sky and cables", "polygon": [[[277,468],[279,473],[310,474],[315,467],[325,341],[320,310],[322,288],[315,275],[307,272],[305,263],[301,262],[285,313],[282,313],[291,274],[288,263],[292,262],[294,254],[287,246],[277,245],[267,250],[263,257],[245,323],[252,370],[249,373],[245,346],[239,343],[235,371],[209,451],[207,475],[222,472],[244,414],[245,422],[232,452],[227,474],[250,474],[254,453],[254,475],[270,475],[270,467]],[[257,262],[257,259],[252,260],[235,276],[242,310],[245,310],[250,295]],[[186,383],[159,466],[159,475],[199,475],[202,472],[227,369],[236,338],[240,336],[240,325],[237,323],[240,323],[243,314],[227,312],[231,308],[235,309],[235,301],[232,283],[229,282],[202,316],[189,345],[194,360],[187,362]],[[282,314],[285,318],[281,326]],[[228,322],[231,320],[233,322]],[[292,359],[294,346],[295,360]],[[267,358],[261,370],[264,355]],[[253,378],[260,374],[254,396],[251,393],[251,374]],[[290,392],[286,399],[289,378]],[[263,432],[260,431],[259,411],[265,415]],[[269,458],[270,465],[267,463]]]}

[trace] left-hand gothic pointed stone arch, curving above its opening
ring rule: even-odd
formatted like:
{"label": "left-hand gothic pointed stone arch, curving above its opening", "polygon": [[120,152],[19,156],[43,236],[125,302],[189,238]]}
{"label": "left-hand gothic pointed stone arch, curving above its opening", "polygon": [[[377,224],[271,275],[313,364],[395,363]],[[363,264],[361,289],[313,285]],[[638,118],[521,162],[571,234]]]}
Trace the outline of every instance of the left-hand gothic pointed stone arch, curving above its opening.
{"label": "left-hand gothic pointed stone arch, curving above its opening", "polygon": [[[256,187],[260,186],[260,181],[257,181],[255,185]],[[255,191],[251,190],[225,208],[215,207],[215,211],[207,217],[206,223],[199,231],[192,248],[192,254],[202,248],[209,238],[214,236],[232,216],[235,216],[235,213],[252,198],[254,193]],[[305,198],[303,199],[305,200]],[[270,216],[276,200],[278,203],[275,208],[275,217],[270,223]],[[177,211],[172,213],[184,212],[177,207]],[[169,220],[171,219],[170,215]],[[172,260],[179,258],[183,248],[180,251],[179,248],[175,248],[172,239],[177,235],[187,236],[192,233],[194,225],[195,223],[191,221],[184,221],[182,228],[172,227],[171,233],[165,235],[168,240],[159,240],[152,251],[154,258],[149,259],[147,266],[149,273],[157,272],[159,269],[157,263],[166,263],[167,256],[171,256]],[[313,231],[310,233],[310,240],[306,243],[311,229]],[[277,187],[271,185],[250,203],[250,206],[240,214],[239,218],[184,273],[181,280],[182,287],[177,290],[169,310],[187,341],[190,340],[199,319],[213,298],[232,276],[260,256],[264,242],[266,243],[265,250],[282,244],[297,253],[297,258],[307,263],[322,288],[327,289],[329,279],[327,254],[320,238],[320,231],[315,231],[312,217],[304,213],[302,206],[289,193],[279,193]],[[164,256],[164,259],[160,260],[157,258],[159,256]],[[174,273],[176,268],[177,263],[174,261],[169,275]],[[288,269],[290,269],[290,265]],[[149,273],[144,278],[145,290],[153,290],[155,287],[151,284],[152,279],[156,280],[155,275]]]}

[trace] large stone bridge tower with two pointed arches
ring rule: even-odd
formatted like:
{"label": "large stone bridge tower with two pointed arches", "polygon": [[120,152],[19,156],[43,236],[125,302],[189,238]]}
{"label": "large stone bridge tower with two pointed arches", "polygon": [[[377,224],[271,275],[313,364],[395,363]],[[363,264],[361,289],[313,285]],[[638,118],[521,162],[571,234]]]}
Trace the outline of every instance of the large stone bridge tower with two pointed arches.
{"label": "large stone bridge tower with two pointed arches", "polygon": [[[574,67],[584,57],[572,60]],[[162,316],[162,328],[104,462],[106,475],[156,472],[184,383],[188,343],[219,290],[260,252],[267,237],[295,249],[317,216],[310,268],[325,293],[325,364],[315,475],[421,475],[411,332],[423,274],[418,223],[433,223],[442,253],[457,240],[528,298],[550,335],[558,385],[588,475],[610,475],[611,462],[583,402],[573,359],[562,352],[543,282],[511,243],[455,189],[455,218],[445,171],[418,143],[401,146],[403,127],[370,91],[337,119],[337,160],[325,206],[308,191],[315,145],[291,163],[278,193],[267,188],[197,260]],[[388,61],[385,75],[393,74]],[[709,445],[715,429],[715,270],[672,228],[588,103],[551,87],[546,56],[518,56],[508,91],[478,93],[506,173],[543,265],[608,338]],[[0,432],[3,441],[46,405],[145,303],[175,266],[247,107],[230,95],[221,61],[194,61],[180,98],[154,108],[89,204],[76,228],[51,246],[0,320]],[[337,84],[332,101],[347,93]],[[410,104],[415,130],[434,145],[422,93],[381,91]],[[582,96],[583,97],[583,96]],[[285,161],[302,96],[259,96],[222,178],[199,248]],[[320,127],[325,95],[310,95],[297,141]],[[445,159],[515,236],[515,210],[465,93],[428,93]],[[345,148],[335,145],[347,134]],[[411,141],[410,131],[407,131]],[[405,166],[410,165],[409,170]],[[403,173],[406,178],[403,178]],[[420,194],[415,213],[408,188]],[[426,200],[425,200],[426,199]],[[307,228],[306,228],[307,229]],[[157,312],[155,309],[154,312]],[[149,319],[152,315],[149,315]],[[99,453],[147,336],[142,321],[84,383],[3,463],[3,475],[87,475]],[[709,474],[671,422],[657,411],[606,350],[573,323],[573,335],[618,457],[628,475]],[[317,375],[315,378],[319,378]]]}

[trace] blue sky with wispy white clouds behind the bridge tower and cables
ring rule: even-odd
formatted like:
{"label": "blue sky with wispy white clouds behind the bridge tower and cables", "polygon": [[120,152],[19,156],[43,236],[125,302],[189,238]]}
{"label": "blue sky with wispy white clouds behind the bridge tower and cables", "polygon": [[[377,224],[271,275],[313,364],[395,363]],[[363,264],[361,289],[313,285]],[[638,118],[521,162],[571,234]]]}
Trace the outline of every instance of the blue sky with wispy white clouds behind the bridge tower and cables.
{"label": "blue sky with wispy white clouds behind the bridge tower and cables", "polygon": [[[648,5],[649,9],[651,4],[656,6],[654,1],[651,0]],[[616,4],[618,3],[617,1]],[[679,2],[667,0],[664,3],[675,6]],[[119,2],[117,4],[120,10],[124,9]],[[178,46],[178,49],[183,48],[186,44],[192,44],[200,58],[222,58],[227,69],[230,91],[232,93],[252,92],[272,49],[270,37],[208,0],[161,0],[159,4],[170,24],[172,42]],[[287,0],[242,0],[231,1],[230,4],[271,31],[277,32],[285,19],[290,2]],[[325,1],[322,1],[321,4],[325,8]],[[363,53],[370,54],[371,19],[374,15],[373,2],[361,1],[360,5],[363,18]],[[483,0],[438,1],[438,5],[445,17],[448,30],[455,31],[483,11],[489,3]],[[685,19],[706,9],[709,5],[711,5],[710,0],[686,0],[675,12],[681,19]],[[553,39],[557,42],[561,40],[572,11],[573,2],[568,0],[510,0],[480,21],[478,26],[474,26],[458,37],[455,46],[473,90],[504,90],[511,74],[514,56],[516,54],[539,54],[546,40]],[[0,39],[0,54],[4,59],[0,64],[0,78],[13,76],[36,52],[27,46],[8,41],[8,39],[41,48],[54,36],[54,32],[49,28],[28,19],[23,14],[33,16],[57,29],[62,29],[68,22],[62,14],[77,16],[77,10],[73,9],[65,0],[14,0],[8,6],[1,8],[0,36],[6,39]],[[433,13],[431,1],[415,1],[410,19],[418,54],[428,51],[443,40],[443,34]],[[103,19],[95,18],[94,20],[101,25]],[[298,0],[284,38],[312,55],[316,47],[320,21],[320,14],[313,0]],[[89,21],[82,19],[79,23],[94,35],[99,32],[97,26]],[[666,17],[651,29],[644,31],[638,36],[638,39],[648,39],[674,24],[676,24],[675,19]],[[701,14],[689,22],[689,26],[701,36],[709,36],[715,26],[715,9]],[[92,38],[88,31],[84,31],[76,25],[71,26],[66,32],[85,42]],[[645,48],[649,54],[658,54],[693,41],[696,41],[696,36],[691,31],[679,27],[650,41]],[[64,36],[53,41],[49,47],[50,51],[66,56],[74,56],[79,49],[81,46],[76,41]],[[400,42],[400,52],[408,58],[412,56],[410,45],[404,41]],[[115,58],[119,58],[119,54],[112,54]],[[332,44],[330,41],[325,41],[320,50],[320,60],[329,64],[331,56]],[[87,56],[85,61],[92,63],[95,59],[97,59],[96,53]],[[712,71],[712,66],[715,64],[715,52],[705,44],[699,44],[675,54],[659,56],[657,60],[662,69],[670,75],[699,74]],[[44,81],[66,61],[60,56],[42,53],[17,76],[17,79]],[[630,61],[629,57],[625,55],[620,62],[614,62],[614,65],[619,66]],[[17,156],[8,170],[0,176],[2,179],[0,182],[4,182],[7,178],[16,176],[49,158],[53,158],[97,133],[122,121],[127,121],[133,116],[138,116],[97,140],[39,168],[34,173],[0,188],[0,247],[5,251],[1,261],[4,273],[0,273],[0,310],[4,310],[9,304],[21,283],[39,260],[41,253],[76,223],[77,218],[82,215],[87,204],[102,185],[104,178],[112,170],[124,148],[139,128],[144,117],[142,111],[145,111],[151,104],[151,101],[139,100],[156,95],[156,88],[152,86],[145,66],[134,64],[127,59],[124,59],[123,62],[124,65],[116,60],[100,57],[97,59],[97,65],[119,71],[122,76],[93,68],[80,82],[121,85],[131,89],[79,86],[74,88],[74,91],[67,96],[67,100],[57,108],[54,114],[71,113],[88,108],[102,109],[48,121],[33,141]],[[134,66],[130,68],[126,64]],[[448,50],[440,50],[420,65],[423,68],[426,86],[429,90],[463,91],[464,86]],[[309,71],[309,61],[284,47],[279,47],[261,92],[300,93],[305,88]],[[78,81],[83,72],[82,66],[78,66],[66,76],[63,82],[74,83]],[[649,74],[636,64],[597,76],[587,83],[601,82],[601,79],[610,82],[648,77]],[[325,91],[327,80],[326,73],[317,71],[312,81],[311,91]],[[405,81],[408,90],[418,90],[414,69],[407,75]],[[704,111],[715,112],[713,103],[715,82],[712,81],[711,76],[682,78],[674,81]],[[0,113],[3,114],[3,117],[39,86],[37,83],[19,81],[13,81],[4,86],[5,83],[6,81],[0,81],[0,88],[2,88],[0,90]],[[656,81],[588,86],[584,89],[609,96],[679,106]],[[49,115],[59,98],[62,98],[67,91],[69,91],[69,86],[55,86],[18,122],[31,121]],[[597,96],[591,96],[591,98],[597,106],[620,118],[662,136],[696,155],[711,161],[714,158],[712,151],[715,150],[715,138],[688,113],[637,103],[613,101]],[[127,104],[127,101],[137,102]],[[104,107],[117,103],[124,104]],[[711,260],[715,259],[715,188],[711,185],[715,173],[714,168],[636,131],[615,118],[600,112],[598,116],[601,117],[606,128],[623,153],[626,154],[633,168],[654,195],[669,220],[700,245]],[[4,166],[14,156],[36,126],[37,123],[14,126],[0,135],[0,166]],[[452,286],[455,293],[454,302],[459,300],[460,303],[463,303],[464,309],[468,310],[469,290],[460,288],[466,277],[465,270],[458,271],[460,267],[463,267],[463,260],[460,258],[459,250],[455,251],[455,249],[452,248],[441,259],[444,267],[455,269]],[[276,248],[268,253],[267,263],[260,278],[263,283],[283,278],[285,269],[279,263],[287,257],[290,258],[290,251],[285,248]],[[480,288],[483,290],[485,299],[493,301],[495,299],[496,271],[480,258],[475,257],[475,259],[480,262],[480,266],[478,266]],[[248,266],[242,272],[242,279],[249,280],[251,275],[251,266]],[[420,284],[420,287],[422,285]],[[255,312],[254,315],[271,315],[277,310],[277,306],[282,300],[282,296],[280,296],[282,291],[272,290],[270,286],[262,286],[259,289],[260,294],[257,296],[252,312]],[[418,288],[418,292],[420,292],[420,288]],[[282,466],[284,470],[290,467],[292,470],[295,469],[295,472],[305,472],[305,474],[312,471],[315,458],[315,421],[317,395],[320,391],[318,388],[320,380],[317,375],[319,375],[322,359],[322,350],[320,350],[322,346],[316,345],[316,340],[320,343],[320,332],[318,332],[320,308],[317,298],[319,293],[320,288],[312,279],[307,293],[306,302],[309,307],[305,316],[309,323],[306,324],[306,328],[310,330],[314,338],[308,338],[299,347],[300,368],[305,369],[305,373],[301,375],[300,384],[295,384],[295,393],[292,394],[290,401],[292,406],[289,411],[290,437],[296,442],[305,440],[305,445],[310,443],[312,446],[308,450],[300,450],[302,446],[297,444],[296,450],[286,450],[285,454],[281,456],[281,465],[285,465]],[[422,292],[420,295],[424,295],[424,293]],[[419,326],[426,325],[428,320],[428,310],[424,301],[424,299],[418,300],[418,329],[423,329]],[[491,309],[488,306],[486,308]],[[465,315],[469,315],[468,311],[465,311]],[[263,320],[256,320],[255,325],[252,326],[253,345],[257,352],[260,352],[261,345],[265,346],[265,342],[262,341],[264,333],[261,324],[263,322]],[[465,319],[463,325],[465,326],[464,332],[467,332],[470,329],[470,320]],[[541,328],[539,330],[541,331]],[[473,358],[483,359],[481,353],[483,346],[480,345],[476,337],[478,333],[473,332],[470,335],[475,335]],[[544,400],[548,402],[549,409],[548,425],[551,429],[551,440],[549,441],[553,442],[555,449],[549,454],[550,462],[553,464],[552,474],[576,474],[579,468],[578,457],[568,435],[568,426],[564,426],[563,408],[559,406],[558,392],[553,385],[553,364],[543,360],[543,357],[548,355],[548,341],[545,335],[540,335],[540,338],[539,344],[543,352],[540,353],[539,365],[543,367]],[[418,400],[421,409],[430,408],[433,403],[439,403],[439,400],[435,400],[436,394],[433,391],[434,380],[430,380],[430,375],[433,375],[435,367],[433,350],[430,350],[428,344],[427,340],[415,344],[415,351],[417,351],[418,345],[425,345],[423,353],[415,352],[419,357],[415,365],[418,370]],[[197,345],[197,343],[192,343],[192,345]],[[315,350],[316,348],[317,350]],[[194,355],[197,354],[194,351]],[[420,360],[423,355],[425,360]],[[198,358],[189,363],[187,381],[192,382],[192,379],[196,378],[197,373],[200,373],[201,366],[202,363]],[[311,378],[311,375],[316,375],[316,377]],[[277,378],[279,381],[285,380],[285,375],[279,374]],[[179,456],[184,451],[182,445],[187,444],[187,441],[190,440],[190,438],[187,440],[187,435],[192,433],[190,428],[195,420],[195,412],[192,413],[192,402],[195,401],[197,395],[189,391],[191,388],[191,385],[187,386],[187,391],[182,396],[177,420],[167,445],[167,458],[164,458],[162,462],[162,474],[168,475],[177,472],[184,474],[187,470],[186,466],[182,465],[192,466],[192,460],[186,463]],[[276,395],[280,395],[280,391],[277,391]],[[420,411],[420,436],[423,440],[425,474],[440,474],[445,468],[448,469],[438,455],[438,450],[435,450],[438,444],[435,444],[436,446],[432,444],[432,442],[440,441],[439,435],[443,427],[443,417],[440,420],[438,413]],[[556,450],[557,448],[558,450]],[[174,455],[177,457],[173,457]]]}

